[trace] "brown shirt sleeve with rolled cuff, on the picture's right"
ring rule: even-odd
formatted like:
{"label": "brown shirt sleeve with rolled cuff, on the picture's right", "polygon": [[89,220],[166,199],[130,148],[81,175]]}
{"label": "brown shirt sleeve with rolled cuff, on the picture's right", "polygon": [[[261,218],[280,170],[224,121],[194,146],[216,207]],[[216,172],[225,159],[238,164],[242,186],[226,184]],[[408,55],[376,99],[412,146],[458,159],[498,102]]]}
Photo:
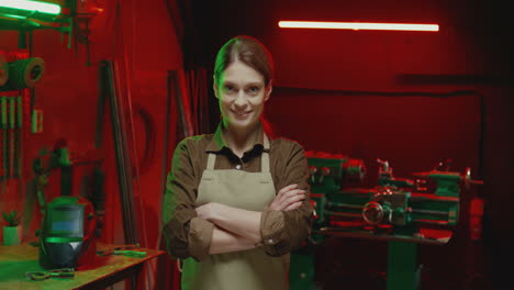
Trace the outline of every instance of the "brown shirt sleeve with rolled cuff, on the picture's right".
{"label": "brown shirt sleeve with rolled cuff, on the picture's right", "polygon": [[270,256],[282,256],[291,250],[302,247],[311,234],[313,209],[310,202],[310,187],[308,183],[308,161],[302,146],[295,142],[290,143],[284,170],[280,174],[277,191],[288,185],[297,183],[305,190],[305,200],[302,205],[292,211],[265,210],[260,220],[260,234],[262,247]]}

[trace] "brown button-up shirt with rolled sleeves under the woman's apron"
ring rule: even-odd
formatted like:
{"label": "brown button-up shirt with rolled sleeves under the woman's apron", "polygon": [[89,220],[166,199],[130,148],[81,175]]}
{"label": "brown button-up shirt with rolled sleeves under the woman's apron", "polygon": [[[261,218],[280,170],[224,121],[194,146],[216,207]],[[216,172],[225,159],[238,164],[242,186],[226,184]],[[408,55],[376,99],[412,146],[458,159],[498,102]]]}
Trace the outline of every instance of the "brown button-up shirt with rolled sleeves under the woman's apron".
{"label": "brown button-up shirt with rolled sleeves under the woman's apron", "polygon": [[[198,187],[206,167],[208,155],[216,154],[214,169],[260,172],[264,135],[260,125],[258,130],[254,145],[242,158],[228,148],[223,137],[222,124],[214,134],[188,137],[177,145],[167,178],[163,208],[163,232],[171,257],[193,257],[202,260],[209,255],[214,224],[198,217],[194,211]],[[268,255],[281,256],[300,248],[311,233],[313,209],[309,199],[309,170],[302,146],[287,138],[270,140],[269,160],[277,193],[293,183],[306,190],[305,200],[299,209],[262,211],[260,245]]]}

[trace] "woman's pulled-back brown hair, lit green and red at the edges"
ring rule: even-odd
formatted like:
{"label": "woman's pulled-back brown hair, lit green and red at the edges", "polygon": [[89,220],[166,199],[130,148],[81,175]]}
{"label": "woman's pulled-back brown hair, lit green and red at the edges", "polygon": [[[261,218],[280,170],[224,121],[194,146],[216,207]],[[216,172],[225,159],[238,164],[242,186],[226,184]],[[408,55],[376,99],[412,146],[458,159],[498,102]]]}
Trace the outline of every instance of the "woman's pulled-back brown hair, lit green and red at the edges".
{"label": "woman's pulled-back brown hair, lit green and red at the edges", "polygon": [[[255,37],[239,35],[227,41],[217,52],[214,64],[214,81],[216,86],[220,85],[219,81],[223,71],[236,60],[242,62],[262,75],[265,86],[268,86],[275,78],[275,64],[268,48]],[[275,138],[276,134],[271,124],[264,118],[264,114],[260,115],[260,123],[266,135]]]}

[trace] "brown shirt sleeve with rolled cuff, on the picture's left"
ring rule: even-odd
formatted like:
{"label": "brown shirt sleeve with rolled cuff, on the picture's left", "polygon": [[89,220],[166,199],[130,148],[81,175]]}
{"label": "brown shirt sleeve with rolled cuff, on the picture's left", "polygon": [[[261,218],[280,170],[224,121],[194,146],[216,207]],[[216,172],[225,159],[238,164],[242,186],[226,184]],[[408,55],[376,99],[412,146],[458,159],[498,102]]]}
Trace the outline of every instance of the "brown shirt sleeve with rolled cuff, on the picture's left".
{"label": "brown shirt sleeve with rolled cuff, on the picture's left", "polygon": [[172,258],[202,260],[209,255],[214,224],[198,217],[195,208],[198,181],[188,140],[175,149],[167,177],[163,205],[163,234]]}

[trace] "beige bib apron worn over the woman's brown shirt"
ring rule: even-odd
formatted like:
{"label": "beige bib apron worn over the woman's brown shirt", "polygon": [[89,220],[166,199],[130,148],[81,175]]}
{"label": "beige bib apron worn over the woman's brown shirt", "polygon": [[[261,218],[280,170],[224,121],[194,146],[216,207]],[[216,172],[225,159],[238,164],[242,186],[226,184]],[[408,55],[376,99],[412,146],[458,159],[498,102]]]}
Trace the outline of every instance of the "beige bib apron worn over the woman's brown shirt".
{"label": "beige bib apron worn over the woman's brown shirt", "polygon": [[[265,136],[265,148],[269,148]],[[262,211],[275,199],[269,154],[262,152],[261,172],[214,170],[210,153],[198,189],[197,205],[219,202]],[[182,290],[284,290],[288,289],[289,254],[268,256],[261,248],[210,255],[202,261],[188,258],[182,267]]]}

